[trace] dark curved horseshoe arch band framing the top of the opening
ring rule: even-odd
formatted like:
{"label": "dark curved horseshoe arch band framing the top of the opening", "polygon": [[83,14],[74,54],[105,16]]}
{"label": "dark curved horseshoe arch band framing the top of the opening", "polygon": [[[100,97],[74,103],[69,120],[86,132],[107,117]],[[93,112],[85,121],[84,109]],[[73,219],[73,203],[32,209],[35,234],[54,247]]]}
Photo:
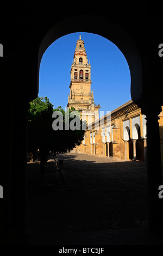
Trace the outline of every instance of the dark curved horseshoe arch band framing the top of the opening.
{"label": "dark curved horseshoe arch band framing the top of the opening", "polygon": [[[38,65],[37,65],[37,92],[39,92],[39,69],[41,58],[46,49],[55,40],[61,36],[74,33],[74,32],[89,32],[103,36],[104,38],[113,42],[123,53],[127,60],[131,75],[131,99],[133,101],[139,100],[142,95],[142,64],[140,53],[131,37],[124,29],[117,26],[114,22],[104,19],[96,15],[83,15],[70,17],[56,23],[46,33],[41,41],[38,53]],[[75,19],[82,19],[82,22],[76,23]],[[89,22],[87,20],[89,19]],[[104,26],[105,25],[105,26]],[[35,96],[37,96],[35,94]]]}

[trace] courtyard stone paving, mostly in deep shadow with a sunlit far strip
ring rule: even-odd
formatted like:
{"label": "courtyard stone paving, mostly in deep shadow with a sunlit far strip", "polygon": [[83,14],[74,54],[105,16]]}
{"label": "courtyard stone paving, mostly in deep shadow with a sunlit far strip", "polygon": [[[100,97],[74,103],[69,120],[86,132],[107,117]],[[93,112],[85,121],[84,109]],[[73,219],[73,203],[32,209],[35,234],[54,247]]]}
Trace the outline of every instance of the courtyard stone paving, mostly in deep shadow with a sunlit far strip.
{"label": "courtyard stone paving, mostly in deep shadow with a sunlit far strip", "polygon": [[27,228],[38,245],[163,245],[147,229],[147,167],[77,153],[28,163]]}

